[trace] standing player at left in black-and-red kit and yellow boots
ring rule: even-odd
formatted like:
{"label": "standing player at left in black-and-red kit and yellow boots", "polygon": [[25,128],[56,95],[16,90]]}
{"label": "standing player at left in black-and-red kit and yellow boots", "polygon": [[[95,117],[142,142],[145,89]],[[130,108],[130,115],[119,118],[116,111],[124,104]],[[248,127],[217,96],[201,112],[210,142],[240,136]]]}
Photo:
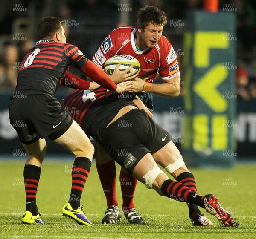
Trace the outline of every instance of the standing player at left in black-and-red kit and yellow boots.
{"label": "standing player at left in black-and-red kit and yellow boots", "polygon": [[[44,138],[48,136],[75,155],[70,199],[64,205],[62,213],[80,225],[92,225],[80,207],[80,198],[90,171],[94,147],[81,127],[54,98],[60,84],[77,89],[90,87],[90,82],[67,73],[70,65],[113,92],[121,92],[127,88],[124,85],[116,86],[76,46],[67,44],[63,24],[58,17],[45,17],[40,21],[37,28],[39,41],[21,63],[17,86],[9,104],[10,123],[28,152],[23,172],[26,212],[22,217],[22,222],[27,224],[44,225],[38,213],[36,193],[46,150]],[[67,140],[68,138],[74,140]]]}

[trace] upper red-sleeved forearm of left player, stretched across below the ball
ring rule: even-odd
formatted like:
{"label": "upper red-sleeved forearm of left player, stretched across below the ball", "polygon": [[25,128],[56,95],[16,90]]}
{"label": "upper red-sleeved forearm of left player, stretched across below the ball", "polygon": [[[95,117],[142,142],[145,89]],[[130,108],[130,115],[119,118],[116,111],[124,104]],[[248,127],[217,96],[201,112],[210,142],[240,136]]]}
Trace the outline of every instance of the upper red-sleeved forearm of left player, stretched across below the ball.
{"label": "upper red-sleeved forearm of left player, stretched across below the ball", "polygon": [[100,84],[101,86],[109,89],[110,91],[115,91],[117,89],[116,84],[109,78],[109,76],[99,69],[93,62],[90,60],[82,67],[82,72],[89,76],[93,81]]}

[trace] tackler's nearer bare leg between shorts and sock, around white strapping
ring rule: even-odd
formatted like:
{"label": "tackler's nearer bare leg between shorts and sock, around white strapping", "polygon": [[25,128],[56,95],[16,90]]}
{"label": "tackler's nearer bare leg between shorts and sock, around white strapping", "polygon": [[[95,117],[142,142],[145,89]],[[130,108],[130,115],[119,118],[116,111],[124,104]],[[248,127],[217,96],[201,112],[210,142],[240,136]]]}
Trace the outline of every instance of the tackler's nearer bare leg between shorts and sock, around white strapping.
{"label": "tackler's nearer bare leg between shorts and sock, around white strapping", "polygon": [[[150,170],[155,169],[155,167],[158,167],[157,163],[154,161],[154,158],[152,157],[152,155],[150,153],[147,153],[134,167],[134,170],[132,171],[132,176],[138,179],[140,182],[145,183],[145,180],[146,180],[145,176]],[[164,172],[161,173],[159,170],[160,169],[157,170],[159,174],[154,179],[154,182],[152,185],[152,188],[157,190],[158,193],[160,193],[159,190],[163,182],[169,179]]]}

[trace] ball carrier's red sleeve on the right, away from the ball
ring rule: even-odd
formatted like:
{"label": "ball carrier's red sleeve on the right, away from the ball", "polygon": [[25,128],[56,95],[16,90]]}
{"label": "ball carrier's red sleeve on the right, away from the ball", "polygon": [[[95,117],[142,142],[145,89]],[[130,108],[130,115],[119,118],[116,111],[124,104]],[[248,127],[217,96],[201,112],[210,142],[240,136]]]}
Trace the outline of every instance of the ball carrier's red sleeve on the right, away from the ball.
{"label": "ball carrier's red sleeve on the right, away from the ball", "polygon": [[177,75],[180,75],[179,70],[179,64],[177,55],[175,53],[175,50],[173,49],[171,43],[162,36],[163,39],[163,45],[164,47],[161,48],[160,58],[160,68],[159,68],[159,75],[163,80],[170,80],[174,78]]}

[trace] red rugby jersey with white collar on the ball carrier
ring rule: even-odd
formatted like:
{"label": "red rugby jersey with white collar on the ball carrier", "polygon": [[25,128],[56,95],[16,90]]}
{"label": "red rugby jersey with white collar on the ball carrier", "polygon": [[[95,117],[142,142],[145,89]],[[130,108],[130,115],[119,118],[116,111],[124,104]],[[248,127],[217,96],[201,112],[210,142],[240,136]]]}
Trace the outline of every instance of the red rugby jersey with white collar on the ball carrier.
{"label": "red rugby jersey with white collar on the ball carrier", "polygon": [[141,71],[138,75],[150,83],[160,74],[163,80],[179,75],[179,65],[175,50],[165,36],[161,36],[156,46],[138,51],[135,45],[134,26],[123,26],[113,30],[102,42],[93,56],[93,62],[103,68],[106,60],[114,55],[131,55],[140,62]]}

